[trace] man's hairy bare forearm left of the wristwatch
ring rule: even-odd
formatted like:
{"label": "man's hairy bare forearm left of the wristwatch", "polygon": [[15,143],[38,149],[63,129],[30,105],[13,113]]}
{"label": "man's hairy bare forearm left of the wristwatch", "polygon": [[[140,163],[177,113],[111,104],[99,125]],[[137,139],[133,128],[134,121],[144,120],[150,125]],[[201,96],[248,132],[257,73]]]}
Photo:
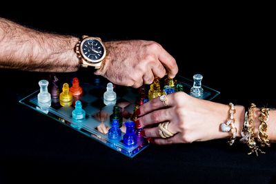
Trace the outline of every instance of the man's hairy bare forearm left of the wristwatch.
{"label": "man's hairy bare forearm left of the wristwatch", "polygon": [[78,39],[38,32],[0,18],[0,68],[43,72],[74,72]]}

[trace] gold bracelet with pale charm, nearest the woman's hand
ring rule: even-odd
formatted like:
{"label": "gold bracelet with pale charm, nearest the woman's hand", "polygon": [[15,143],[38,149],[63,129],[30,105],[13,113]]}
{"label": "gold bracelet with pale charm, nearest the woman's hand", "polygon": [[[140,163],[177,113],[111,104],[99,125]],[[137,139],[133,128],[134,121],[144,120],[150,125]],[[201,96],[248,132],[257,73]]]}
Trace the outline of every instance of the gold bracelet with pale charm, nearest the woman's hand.
{"label": "gold bracelet with pale charm, nearest the woman's hand", "polygon": [[226,123],[220,124],[220,129],[222,132],[230,132],[232,134],[231,138],[227,143],[229,145],[233,145],[237,136],[237,128],[235,127],[235,119],[234,114],[236,112],[235,106],[233,103],[229,103],[229,119]]}

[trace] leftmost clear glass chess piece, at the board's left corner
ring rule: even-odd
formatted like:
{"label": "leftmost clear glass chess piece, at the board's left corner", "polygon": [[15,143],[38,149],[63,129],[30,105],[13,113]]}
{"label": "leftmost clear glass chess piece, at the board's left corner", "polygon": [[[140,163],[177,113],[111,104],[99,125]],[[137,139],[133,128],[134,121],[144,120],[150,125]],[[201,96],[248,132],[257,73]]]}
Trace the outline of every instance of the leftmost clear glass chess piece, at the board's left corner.
{"label": "leftmost clear glass chess piece, at the board's left corner", "polygon": [[39,81],[40,92],[37,94],[37,101],[39,105],[47,108],[51,105],[51,95],[48,92],[49,82],[46,80]]}

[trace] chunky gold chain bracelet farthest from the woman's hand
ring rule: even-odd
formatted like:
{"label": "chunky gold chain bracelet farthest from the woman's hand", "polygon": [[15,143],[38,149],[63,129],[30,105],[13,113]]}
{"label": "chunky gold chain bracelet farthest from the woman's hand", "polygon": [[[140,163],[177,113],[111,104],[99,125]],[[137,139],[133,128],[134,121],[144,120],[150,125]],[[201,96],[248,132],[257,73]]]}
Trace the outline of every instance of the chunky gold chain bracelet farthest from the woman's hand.
{"label": "chunky gold chain bracelet farthest from the woman's hand", "polygon": [[262,147],[268,146],[270,147],[270,142],[268,140],[267,131],[267,122],[269,119],[269,109],[268,108],[261,108],[261,114],[259,115],[259,121],[261,124],[259,125],[259,134],[258,134],[258,141]]}

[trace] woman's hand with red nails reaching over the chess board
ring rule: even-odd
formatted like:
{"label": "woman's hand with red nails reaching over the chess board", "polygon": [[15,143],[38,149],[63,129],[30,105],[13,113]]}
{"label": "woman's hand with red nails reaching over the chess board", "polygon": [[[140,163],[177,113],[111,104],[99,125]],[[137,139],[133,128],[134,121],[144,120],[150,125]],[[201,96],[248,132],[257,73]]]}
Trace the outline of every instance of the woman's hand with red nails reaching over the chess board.
{"label": "woman's hand with red nails reaching over the chess board", "polygon": [[[228,119],[228,105],[196,99],[184,92],[168,94],[166,104],[168,106],[156,98],[137,110],[139,118],[135,125],[138,128],[144,127],[141,134],[151,138],[153,143],[192,143],[231,136],[229,132],[219,130],[219,124]],[[235,109],[235,118],[238,117],[235,125],[237,130],[241,130],[244,108],[235,106]],[[168,130],[174,136],[163,139],[159,135],[158,125],[166,121],[170,121]]]}

